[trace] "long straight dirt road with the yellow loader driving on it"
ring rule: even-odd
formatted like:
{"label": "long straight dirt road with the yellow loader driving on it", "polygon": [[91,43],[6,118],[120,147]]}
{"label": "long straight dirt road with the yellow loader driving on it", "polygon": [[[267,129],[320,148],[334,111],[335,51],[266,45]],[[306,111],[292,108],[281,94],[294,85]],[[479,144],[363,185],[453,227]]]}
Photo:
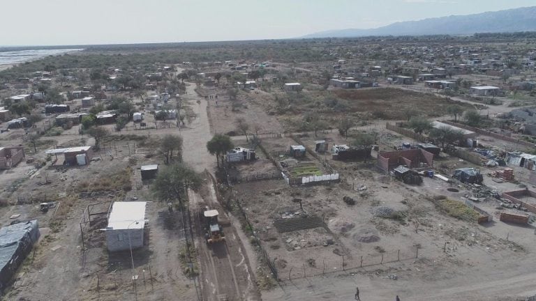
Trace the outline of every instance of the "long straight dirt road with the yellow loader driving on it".
{"label": "long straight dirt road with the yellow loader driving on it", "polygon": [[[183,99],[190,102],[196,118],[187,128],[181,129],[183,137],[184,162],[190,164],[195,171],[214,170],[216,160],[207,152],[205,145],[212,138],[207,116],[207,100],[198,96],[194,91],[195,85],[186,86]],[[248,264],[248,256],[238,236],[234,224],[228,222],[225,210],[216,199],[216,192],[211,180],[207,177],[202,189],[203,196],[189,192],[193,223],[195,224],[196,247],[201,263],[200,281],[203,286],[204,300],[260,300],[260,295],[254,283],[253,273]],[[223,220],[223,231],[226,241],[214,245],[204,242],[202,221],[198,219],[200,204],[207,204],[217,209]],[[227,298],[227,299],[225,299]]]}

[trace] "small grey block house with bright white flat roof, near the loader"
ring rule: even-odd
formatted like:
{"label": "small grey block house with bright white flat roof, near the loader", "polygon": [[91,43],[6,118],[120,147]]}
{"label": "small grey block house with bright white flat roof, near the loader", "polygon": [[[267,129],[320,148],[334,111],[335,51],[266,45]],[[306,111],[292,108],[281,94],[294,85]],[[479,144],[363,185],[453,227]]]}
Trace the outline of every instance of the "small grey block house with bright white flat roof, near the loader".
{"label": "small grey block house with bright white flat roof, near the loader", "polygon": [[143,247],[145,207],[147,202],[114,202],[108,215],[106,244],[108,251],[117,252]]}

